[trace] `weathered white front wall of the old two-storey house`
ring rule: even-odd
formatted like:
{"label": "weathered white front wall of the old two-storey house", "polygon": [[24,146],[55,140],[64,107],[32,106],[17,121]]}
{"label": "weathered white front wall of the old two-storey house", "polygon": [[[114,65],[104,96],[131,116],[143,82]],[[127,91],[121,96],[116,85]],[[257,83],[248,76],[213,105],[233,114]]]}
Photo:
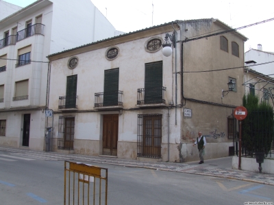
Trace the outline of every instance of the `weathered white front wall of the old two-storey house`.
{"label": "weathered white front wall of the old two-storey house", "polygon": [[[162,33],[158,38],[164,38]],[[49,109],[58,110],[59,96],[66,95],[66,77],[77,74],[77,109],[90,110],[92,112],[84,113],[58,113],[54,120],[53,137],[58,137],[58,116],[75,115],[75,140],[99,141],[102,136],[102,118],[104,114],[119,113],[119,111],[96,111],[94,109],[95,93],[103,92],[104,70],[119,68],[119,90],[123,91],[123,108],[119,115],[119,143],[123,145],[134,144],[133,149],[129,150],[123,146],[119,147],[118,155],[123,158],[131,158],[133,152],[137,149],[137,125],[138,114],[162,114],[162,156],[163,161],[167,160],[168,126],[172,146],[179,144],[181,115],[177,109],[177,125],[175,125],[175,109],[170,111],[171,118],[168,124],[168,109],[136,109],[137,89],[145,87],[145,64],[155,61],[163,62],[163,86],[166,87],[166,103],[175,102],[174,96],[174,66],[172,59],[174,57],[164,57],[162,49],[155,53],[149,53],[145,50],[147,40],[154,38],[140,38],[121,44],[115,44],[119,49],[119,55],[114,60],[105,58],[105,52],[111,47],[103,47],[95,51],[79,53],[75,56],[79,59],[79,64],[73,70],[67,67],[69,57],[64,57],[51,62],[51,85],[49,91]],[[178,57],[179,58],[179,57]],[[179,64],[179,61],[178,61]],[[179,66],[179,65],[178,65]],[[56,86],[58,85],[58,86]],[[179,86],[178,86],[179,87]],[[178,102],[180,89],[178,88]],[[125,143],[125,144],[124,144]],[[128,146],[131,147],[131,146]],[[82,147],[84,148],[84,147]],[[92,150],[92,147],[90,147]],[[94,149],[93,149],[94,150]],[[171,161],[179,161],[179,151],[173,149]],[[75,152],[80,152],[75,149]],[[176,154],[175,154],[176,153]],[[95,153],[100,154],[100,153]]]}

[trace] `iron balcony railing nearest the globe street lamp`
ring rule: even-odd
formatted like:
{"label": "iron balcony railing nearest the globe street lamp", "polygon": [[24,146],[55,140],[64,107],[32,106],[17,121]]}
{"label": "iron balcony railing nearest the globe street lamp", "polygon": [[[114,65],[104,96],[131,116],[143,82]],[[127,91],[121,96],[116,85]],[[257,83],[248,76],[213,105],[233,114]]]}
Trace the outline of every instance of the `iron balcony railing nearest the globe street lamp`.
{"label": "iron balcony railing nearest the globe street lamp", "polygon": [[139,88],[137,90],[137,105],[166,104],[165,91],[166,87]]}

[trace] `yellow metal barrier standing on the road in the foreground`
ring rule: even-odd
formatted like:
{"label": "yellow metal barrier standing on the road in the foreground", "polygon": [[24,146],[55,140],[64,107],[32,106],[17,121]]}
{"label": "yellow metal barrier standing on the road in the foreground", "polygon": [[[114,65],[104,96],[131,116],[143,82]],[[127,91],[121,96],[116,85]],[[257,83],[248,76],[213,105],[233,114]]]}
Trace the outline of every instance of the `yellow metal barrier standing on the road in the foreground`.
{"label": "yellow metal barrier standing on the road in the foreground", "polygon": [[81,201],[83,205],[106,205],[107,199],[108,169],[64,161],[64,205],[79,205]]}

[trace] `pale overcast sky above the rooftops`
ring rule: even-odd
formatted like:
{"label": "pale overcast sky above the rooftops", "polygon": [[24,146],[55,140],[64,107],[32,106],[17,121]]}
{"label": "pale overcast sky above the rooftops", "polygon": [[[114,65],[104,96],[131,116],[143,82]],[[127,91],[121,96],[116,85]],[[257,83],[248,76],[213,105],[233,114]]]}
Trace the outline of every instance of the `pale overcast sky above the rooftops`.
{"label": "pale overcast sky above the rooftops", "polygon": [[[25,7],[35,0],[3,1]],[[92,0],[92,3],[115,29],[124,32],[173,20],[218,18],[230,27],[238,28],[274,18],[273,0]],[[245,51],[257,49],[257,45],[262,44],[263,51],[274,52],[274,20],[238,32],[249,38]]]}

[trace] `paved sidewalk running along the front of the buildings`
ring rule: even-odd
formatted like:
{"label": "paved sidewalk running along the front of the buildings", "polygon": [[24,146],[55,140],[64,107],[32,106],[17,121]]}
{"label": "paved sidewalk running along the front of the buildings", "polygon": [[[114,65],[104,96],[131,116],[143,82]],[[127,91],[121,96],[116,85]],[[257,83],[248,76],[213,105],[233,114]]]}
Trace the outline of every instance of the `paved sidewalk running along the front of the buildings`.
{"label": "paved sidewalk running along the front of the buildings", "polygon": [[[49,161],[84,161],[87,163],[105,163],[110,165],[121,165],[125,167],[138,167],[147,169],[156,169],[169,172],[182,172],[188,174],[199,174],[203,176],[214,176],[220,178],[229,178],[234,180],[243,180],[247,182],[256,182],[260,184],[268,184],[274,186],[274,174],[260,174],[259,172],[249,172],[238,169],[229,168],[229,165],[219,167],[216,162],[218,159],[211,159],[199,165],[198,162],[190,163],[147,163],[129,159],[118,159],[105,156],[88,156],[80,154],[60,154],[58,152],[43,152],[36,150],[28,150],[25,148],[10,148],[0,146],[0,151],[16,152],[25,155],[26,157],[33,156],[38,159]],[[223,160],[229,160],[223,158]],[[263,167],[263,166],[262,166]],[[262,169],[264,172],[264,169]]]}

